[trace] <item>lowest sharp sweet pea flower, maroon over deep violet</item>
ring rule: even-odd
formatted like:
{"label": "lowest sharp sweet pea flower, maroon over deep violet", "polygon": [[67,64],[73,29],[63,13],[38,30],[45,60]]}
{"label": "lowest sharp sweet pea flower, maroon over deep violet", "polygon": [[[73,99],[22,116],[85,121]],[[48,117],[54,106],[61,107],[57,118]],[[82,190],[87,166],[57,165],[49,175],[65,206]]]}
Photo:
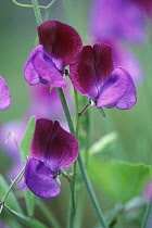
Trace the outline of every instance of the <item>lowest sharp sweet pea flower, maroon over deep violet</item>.
{"label": "lowest sharp sweet pea flower, maroon over deep violet", "polygon": [[30,145],[31,157],[25,167],[25,186],[40,198],[54,198],[61,192],[55,181],[59,170],[69,166],[78,156],[76,138],[59,122],[39,118]]}

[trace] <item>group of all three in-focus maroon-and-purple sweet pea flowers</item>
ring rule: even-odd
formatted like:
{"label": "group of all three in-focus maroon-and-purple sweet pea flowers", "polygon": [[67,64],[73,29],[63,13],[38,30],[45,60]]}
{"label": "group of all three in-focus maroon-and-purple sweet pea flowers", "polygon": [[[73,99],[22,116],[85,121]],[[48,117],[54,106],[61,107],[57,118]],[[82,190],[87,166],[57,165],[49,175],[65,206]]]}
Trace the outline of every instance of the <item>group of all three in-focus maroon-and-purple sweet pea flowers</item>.
{"label": "group of all three in-focus maroon-and-purple sweet pea flowers", "polygon": [[[31,86],[39,83],[65,87],[63,75],[69,66],[74,88],[89,97],[96,106],[127,110],[136,103],[131,76],[123,67],[114,68],[112,49],[97,43],[83,47],[81,38],[71,26],[47,21],[38,26],[39,46],[29,54],[24,77]],[[25,187],[41,198],[56,197],[60,169],[69,166],[78,156],[78,142],[55,121],[39,118],[25,167]]]}

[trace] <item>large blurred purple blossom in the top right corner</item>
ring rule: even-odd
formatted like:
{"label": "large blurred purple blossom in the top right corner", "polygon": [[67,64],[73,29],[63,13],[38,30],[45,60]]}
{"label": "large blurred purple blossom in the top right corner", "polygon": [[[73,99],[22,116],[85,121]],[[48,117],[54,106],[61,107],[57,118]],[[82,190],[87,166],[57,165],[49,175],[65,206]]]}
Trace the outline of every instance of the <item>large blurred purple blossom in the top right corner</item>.
{"label": "large blurred purple blossom in the top right corner", "polygon": [[145,40],[144,12],[152,12],[151,0],[96,0],[89,20],[93,37],[130,42]]}

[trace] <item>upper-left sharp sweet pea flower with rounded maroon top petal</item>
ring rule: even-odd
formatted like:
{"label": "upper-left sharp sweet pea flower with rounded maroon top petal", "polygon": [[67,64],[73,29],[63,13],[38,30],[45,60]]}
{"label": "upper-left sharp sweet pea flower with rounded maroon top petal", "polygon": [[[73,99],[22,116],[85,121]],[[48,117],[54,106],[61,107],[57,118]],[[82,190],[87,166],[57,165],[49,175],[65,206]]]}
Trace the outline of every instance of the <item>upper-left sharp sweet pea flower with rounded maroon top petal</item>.
{"label": "upper-left sharp sweet pea flower with rounded maroon top petal", "polygon": [[30,86],[49,84],[65,87],[65,66],[73,64],[83,48],[78,33],[71,26],[46,21],[38,26],[39,46],[28,56],[24,77]]}

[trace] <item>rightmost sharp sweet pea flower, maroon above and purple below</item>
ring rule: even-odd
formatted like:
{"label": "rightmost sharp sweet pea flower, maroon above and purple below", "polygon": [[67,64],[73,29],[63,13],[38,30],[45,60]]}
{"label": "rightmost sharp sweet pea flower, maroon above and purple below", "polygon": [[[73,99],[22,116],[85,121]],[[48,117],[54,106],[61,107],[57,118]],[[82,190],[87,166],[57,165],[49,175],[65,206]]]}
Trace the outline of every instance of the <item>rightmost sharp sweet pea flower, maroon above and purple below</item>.
{"label": "rightmost sharp sweet pea flower, maroon above and purple below", "polygon": [[105,43],[84,47],[69,77],[75,89],[97,107],[128,110],[137,101],[131,76],[122,67],[113,69],[112,49]]}

